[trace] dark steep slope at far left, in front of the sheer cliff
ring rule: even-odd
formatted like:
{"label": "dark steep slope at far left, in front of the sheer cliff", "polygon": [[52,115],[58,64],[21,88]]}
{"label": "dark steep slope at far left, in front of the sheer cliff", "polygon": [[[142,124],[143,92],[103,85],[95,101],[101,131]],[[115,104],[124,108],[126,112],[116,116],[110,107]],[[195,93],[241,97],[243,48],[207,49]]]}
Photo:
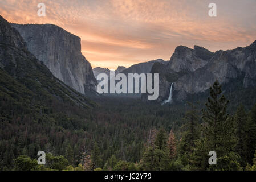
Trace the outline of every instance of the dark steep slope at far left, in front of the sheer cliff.
{"label": "dark steep slope at far left, in front of the sheer cliff", "polygon": [[83,94],[54,77],[46,65],[27,49],[19,32],[1,15],[0,74],[1,95],[7,100],[29,105],[30,109],[34,106],[38,109],[40,104],[45,105],[49,100],[67,106],[94,105]]}

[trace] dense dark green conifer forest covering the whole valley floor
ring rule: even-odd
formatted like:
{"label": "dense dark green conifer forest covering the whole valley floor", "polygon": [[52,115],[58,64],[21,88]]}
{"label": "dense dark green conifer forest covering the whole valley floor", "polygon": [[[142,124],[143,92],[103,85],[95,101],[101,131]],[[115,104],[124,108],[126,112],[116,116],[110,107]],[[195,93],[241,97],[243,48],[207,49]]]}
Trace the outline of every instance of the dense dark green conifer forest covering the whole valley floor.
{"label": "dense dark green conifer forest covering the whole valley floor", "polygon": [[2,94],[1,170],[256,170],[256,105],[223,96],[218,81],[208,94],[164,106],[108,97],[91,108]]}

